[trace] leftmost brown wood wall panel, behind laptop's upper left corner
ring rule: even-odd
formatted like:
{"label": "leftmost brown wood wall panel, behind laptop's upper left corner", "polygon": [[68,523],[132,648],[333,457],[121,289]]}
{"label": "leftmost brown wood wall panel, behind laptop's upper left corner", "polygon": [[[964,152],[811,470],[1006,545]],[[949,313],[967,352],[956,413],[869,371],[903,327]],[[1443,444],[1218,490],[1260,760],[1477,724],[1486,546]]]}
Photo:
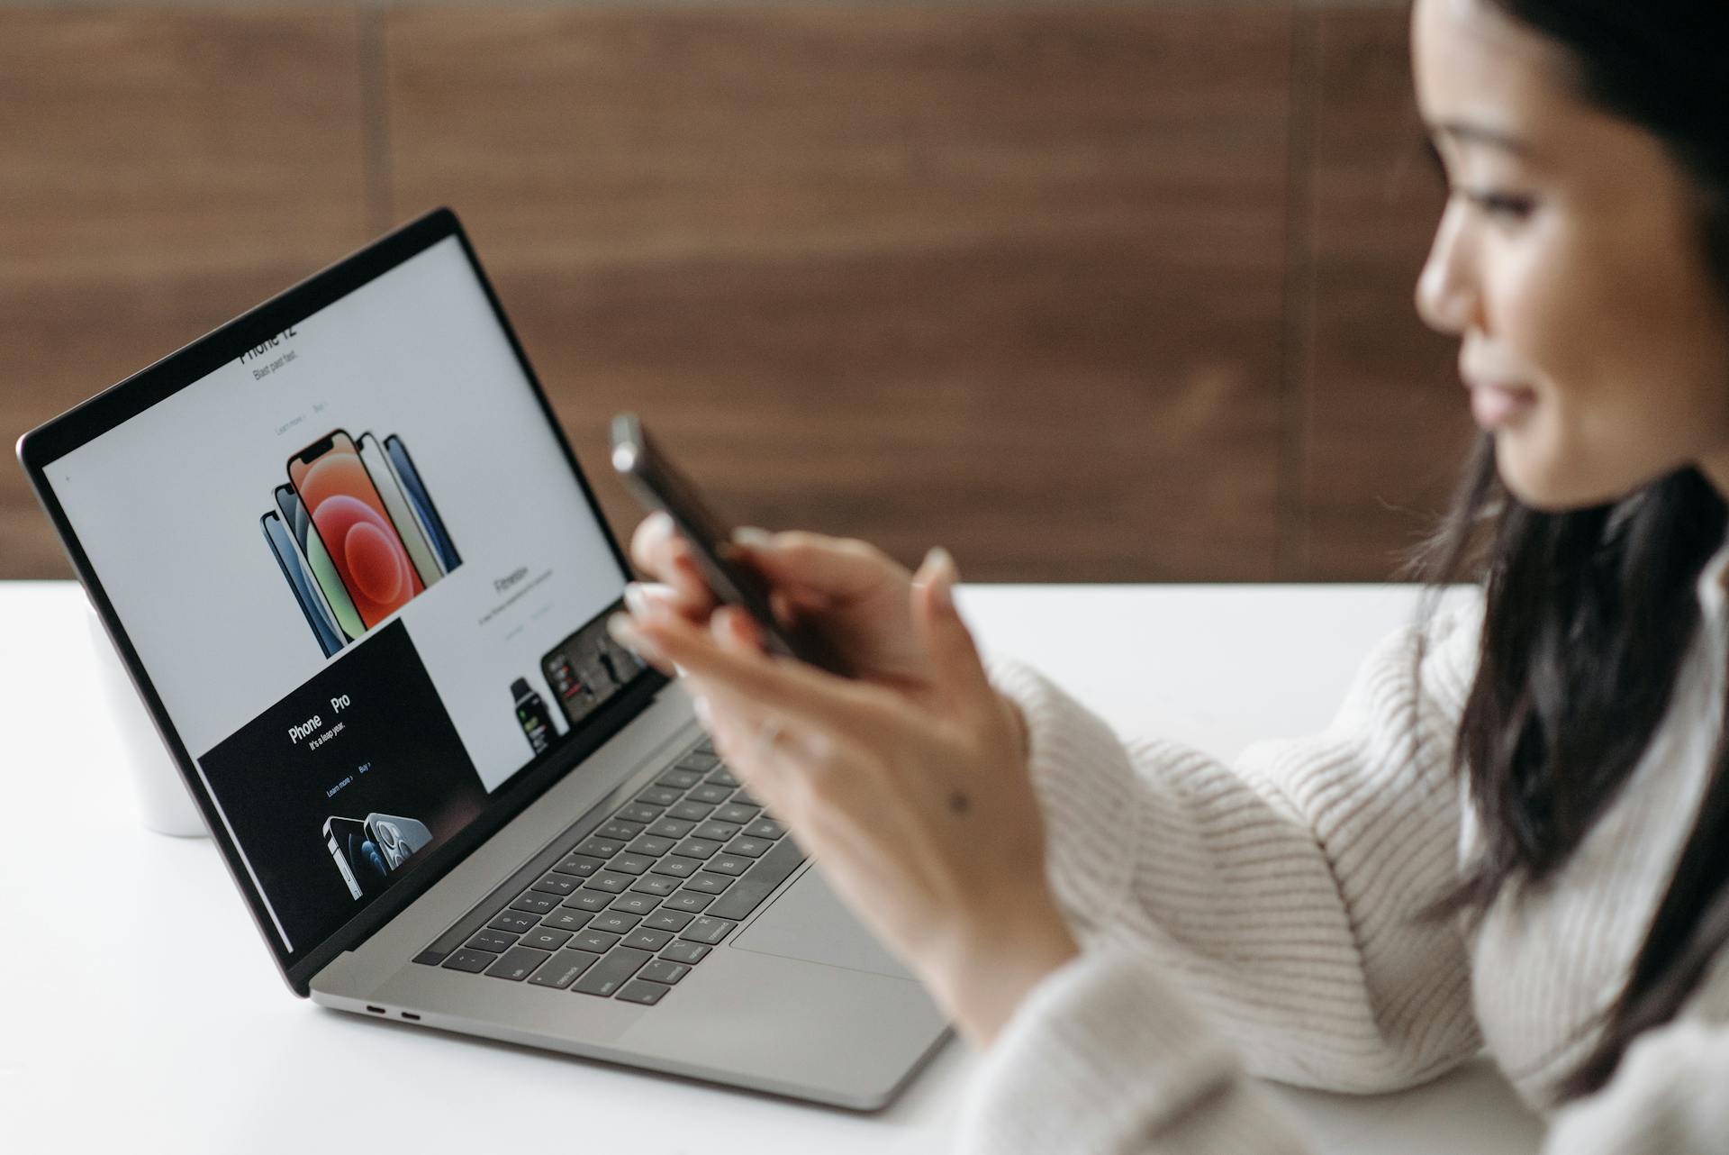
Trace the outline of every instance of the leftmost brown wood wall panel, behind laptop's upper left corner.
{"label": "leftmost brown wood wall panel, behind laptop's upper left corner", "polygon": [[[360,22],[0,10],[0,434],[367,237]],[[0,578],[67,567],[0,467]]]}

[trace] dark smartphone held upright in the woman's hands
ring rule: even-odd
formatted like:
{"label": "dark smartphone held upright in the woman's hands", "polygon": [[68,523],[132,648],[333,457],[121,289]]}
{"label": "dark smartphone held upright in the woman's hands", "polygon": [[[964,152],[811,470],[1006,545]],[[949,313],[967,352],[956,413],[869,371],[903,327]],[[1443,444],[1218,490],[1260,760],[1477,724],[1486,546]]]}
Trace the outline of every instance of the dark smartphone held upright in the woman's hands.
{"label": "dark smartphone held upright in the woman's hands", "polygon": [[828,641],[807,628],[782,626],[769,609],[769,586],[754,569],[742,565],[731,534],[683,472],[660,451],[635,413],[612,418],[612,469],[626,488],[650,510],[664,510],[697,555],[697,569],[719,602],[742,607],[757,621],[768,648],[797,657],[830,673],[845,674],[845,664]]}

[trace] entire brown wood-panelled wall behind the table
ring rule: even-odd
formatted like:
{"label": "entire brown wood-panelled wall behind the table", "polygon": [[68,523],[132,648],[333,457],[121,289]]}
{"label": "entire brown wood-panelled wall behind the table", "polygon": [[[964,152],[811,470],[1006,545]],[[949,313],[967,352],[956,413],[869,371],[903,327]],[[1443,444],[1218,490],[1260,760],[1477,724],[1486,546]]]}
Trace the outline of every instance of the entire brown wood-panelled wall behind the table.
{"label": "entire brown wood-panelled wall behind the table", "polygon": [[[636,408],[735,519],[977,581],[1381,579],[1468,437],[1404,38],[1345,0],[0,9],[0,434],[450,204],[590,462]],[[0,467],[0,578],[64,572]]]}

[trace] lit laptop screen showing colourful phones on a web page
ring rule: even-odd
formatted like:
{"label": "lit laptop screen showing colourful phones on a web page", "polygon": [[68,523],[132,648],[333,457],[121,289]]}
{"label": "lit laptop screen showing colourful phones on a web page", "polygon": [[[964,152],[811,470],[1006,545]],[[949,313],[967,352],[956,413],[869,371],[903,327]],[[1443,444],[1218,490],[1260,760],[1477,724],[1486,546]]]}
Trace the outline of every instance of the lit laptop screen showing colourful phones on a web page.
{"label": "lit laptop screen showing colourful phones on a web page", "polygon": [[289,961],[641,671],[456,235],[43,475]]}

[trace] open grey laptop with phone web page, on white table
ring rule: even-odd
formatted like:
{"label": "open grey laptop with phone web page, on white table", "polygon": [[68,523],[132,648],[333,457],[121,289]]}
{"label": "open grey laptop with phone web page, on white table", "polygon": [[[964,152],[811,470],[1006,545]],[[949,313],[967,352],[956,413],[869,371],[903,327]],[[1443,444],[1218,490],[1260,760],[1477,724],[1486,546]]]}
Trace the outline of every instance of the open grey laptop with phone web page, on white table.
{"label": "open grey laptop with phone web page, on white table", "polygon": [[296,994],[859,1110],[946,1037],[607,635],[624,552],[448,209],[19,458]]}

